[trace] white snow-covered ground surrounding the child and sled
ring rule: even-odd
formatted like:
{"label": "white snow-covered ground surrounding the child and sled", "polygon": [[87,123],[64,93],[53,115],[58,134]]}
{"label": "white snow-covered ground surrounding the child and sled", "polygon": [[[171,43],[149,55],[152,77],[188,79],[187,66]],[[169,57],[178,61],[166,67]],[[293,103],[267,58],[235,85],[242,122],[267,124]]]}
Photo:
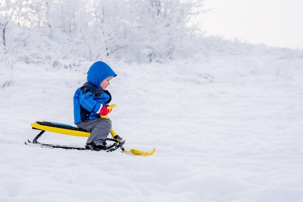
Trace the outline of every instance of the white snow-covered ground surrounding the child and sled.
{"label": "white snow-covered ground surrounding the child and sled", "polygon": [[[30,147],[36,120],[73,125],[75,69],[16,62],[0,88],[1,202],[303,202],[303,52],[212,44],[166,64],[107,62],[110,114],[134,157]],[[222,48],[222,47],[223,48]],[[1,85],[10,77],[0,63]],[[84,145],[47,133],[43,143]]]}

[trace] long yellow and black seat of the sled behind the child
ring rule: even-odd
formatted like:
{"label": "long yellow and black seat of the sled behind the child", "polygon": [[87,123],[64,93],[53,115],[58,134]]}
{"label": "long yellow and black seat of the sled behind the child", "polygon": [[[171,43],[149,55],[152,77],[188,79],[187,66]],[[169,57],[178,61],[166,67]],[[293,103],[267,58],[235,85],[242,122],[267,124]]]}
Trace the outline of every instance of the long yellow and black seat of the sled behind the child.
{"label": "long yellow and black seat of the sled behind the child", "polygon": [[43,132],[49,131],[65,135],[73,135],[80,137],[90,137],[91,135],[91,133],[87,130],[56,122],[36,121],[34,123],[31,123],[31,127],[32,129],[42,130]]}

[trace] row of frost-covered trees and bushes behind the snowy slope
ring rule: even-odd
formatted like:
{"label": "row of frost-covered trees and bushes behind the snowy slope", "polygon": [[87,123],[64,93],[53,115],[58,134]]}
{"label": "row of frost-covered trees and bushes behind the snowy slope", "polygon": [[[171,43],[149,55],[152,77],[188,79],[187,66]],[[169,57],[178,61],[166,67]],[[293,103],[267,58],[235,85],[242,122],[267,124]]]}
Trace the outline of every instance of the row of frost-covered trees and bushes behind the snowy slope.
{"label": "row of frost-covered trees and bushes behind the snowy slope", "polygon": [[202,6],[203,0],[0,0],[0,54],[37,46],[42,54],[41,43],[51,49],[48,42],[56,42],[88,60],[186,58],[201,33],[193,17]]}

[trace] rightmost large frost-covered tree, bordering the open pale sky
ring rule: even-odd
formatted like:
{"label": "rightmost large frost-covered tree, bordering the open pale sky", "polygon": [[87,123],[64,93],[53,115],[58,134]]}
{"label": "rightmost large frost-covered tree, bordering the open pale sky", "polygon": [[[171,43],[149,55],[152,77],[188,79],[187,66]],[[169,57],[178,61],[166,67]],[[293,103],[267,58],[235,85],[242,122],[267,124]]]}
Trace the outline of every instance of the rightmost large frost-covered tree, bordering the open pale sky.
{"label": "rightmost large frost-covered tree, bordering the open pale sky", "polygon": [[185,54],[193,29],[188,22],[193,9],[202,7],[203,0],[132,0],[130,15],[125,19],[129,30],[127,41],[131,55],[143,61],[163,61]]}

